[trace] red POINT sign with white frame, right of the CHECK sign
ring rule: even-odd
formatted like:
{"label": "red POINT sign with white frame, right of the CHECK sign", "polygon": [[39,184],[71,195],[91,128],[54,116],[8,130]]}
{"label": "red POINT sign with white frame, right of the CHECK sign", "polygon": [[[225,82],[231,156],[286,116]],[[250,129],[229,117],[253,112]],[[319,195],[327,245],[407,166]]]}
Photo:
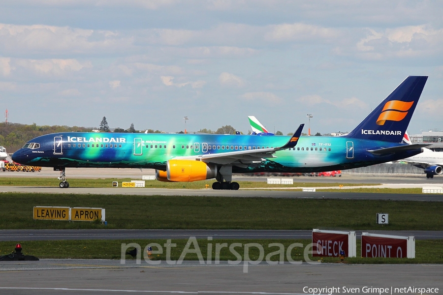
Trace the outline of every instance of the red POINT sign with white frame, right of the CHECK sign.
{"label": "red POINT sign with white frame, right of the CHECK sign", "polygon": [[361,257],[415,258],[415,238],[362,233]]}

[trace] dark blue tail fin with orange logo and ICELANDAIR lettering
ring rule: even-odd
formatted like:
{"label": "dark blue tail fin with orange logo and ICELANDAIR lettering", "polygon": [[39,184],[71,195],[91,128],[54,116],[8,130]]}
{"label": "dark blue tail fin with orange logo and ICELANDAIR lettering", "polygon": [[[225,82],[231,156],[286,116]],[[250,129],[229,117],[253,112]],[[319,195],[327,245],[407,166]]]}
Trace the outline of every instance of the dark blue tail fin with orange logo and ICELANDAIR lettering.
{"label": "dark blue tail fin with orange logo and ICELANDAIR lettering", "polygon": [[406,78],[346,137],[400,143],[427,79]]}

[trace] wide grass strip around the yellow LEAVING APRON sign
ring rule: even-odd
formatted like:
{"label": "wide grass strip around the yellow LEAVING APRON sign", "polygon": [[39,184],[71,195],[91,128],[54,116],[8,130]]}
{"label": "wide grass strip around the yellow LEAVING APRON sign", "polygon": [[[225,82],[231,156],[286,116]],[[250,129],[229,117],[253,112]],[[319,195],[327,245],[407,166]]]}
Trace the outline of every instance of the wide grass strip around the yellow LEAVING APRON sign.
{"label": "wide grass strip around the yellow LEAVING APRON sign", "polygon": [[[350,197],[350,196],[347,196]],[[443,202],[0,193],[0,229],[442,230]],[[34,206],[99,207],[97,222],[33,220]],[[377,213],[389,224],[378,225]]]}

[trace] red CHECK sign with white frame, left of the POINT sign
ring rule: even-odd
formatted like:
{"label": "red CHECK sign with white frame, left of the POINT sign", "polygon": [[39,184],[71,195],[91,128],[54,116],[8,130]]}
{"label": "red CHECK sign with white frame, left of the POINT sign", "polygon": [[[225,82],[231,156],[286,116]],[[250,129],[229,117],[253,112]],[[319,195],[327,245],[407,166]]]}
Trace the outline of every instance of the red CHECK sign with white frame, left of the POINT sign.
{"label": "red CHECK sign with white frame, left of the POINT sign", "polygon": [[340,257],[344,251],[347,257],[356,257],[355,232],[312,231],[312,256]]}

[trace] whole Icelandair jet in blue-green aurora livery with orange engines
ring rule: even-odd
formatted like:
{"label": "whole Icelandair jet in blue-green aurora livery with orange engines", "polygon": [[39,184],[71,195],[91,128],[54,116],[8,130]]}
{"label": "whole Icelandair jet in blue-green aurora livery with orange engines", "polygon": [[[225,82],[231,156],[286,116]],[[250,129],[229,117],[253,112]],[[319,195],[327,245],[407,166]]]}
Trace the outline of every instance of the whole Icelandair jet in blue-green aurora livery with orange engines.
{"label": "whole Icelandair jet in blue-green aurora livery with orange engines", "polygon": [[160,181],[215,178],[213,189],[238,189],[233,173],[369,166],[411,157],[427,146],[400,143],[427,78],[406,78],[346,136],[300,137],[303,124],[293,136],[62,132],[32,139],[12,159],[54,167],[61,188],[69,186],[65,169],[71,167],[152,168]]}

